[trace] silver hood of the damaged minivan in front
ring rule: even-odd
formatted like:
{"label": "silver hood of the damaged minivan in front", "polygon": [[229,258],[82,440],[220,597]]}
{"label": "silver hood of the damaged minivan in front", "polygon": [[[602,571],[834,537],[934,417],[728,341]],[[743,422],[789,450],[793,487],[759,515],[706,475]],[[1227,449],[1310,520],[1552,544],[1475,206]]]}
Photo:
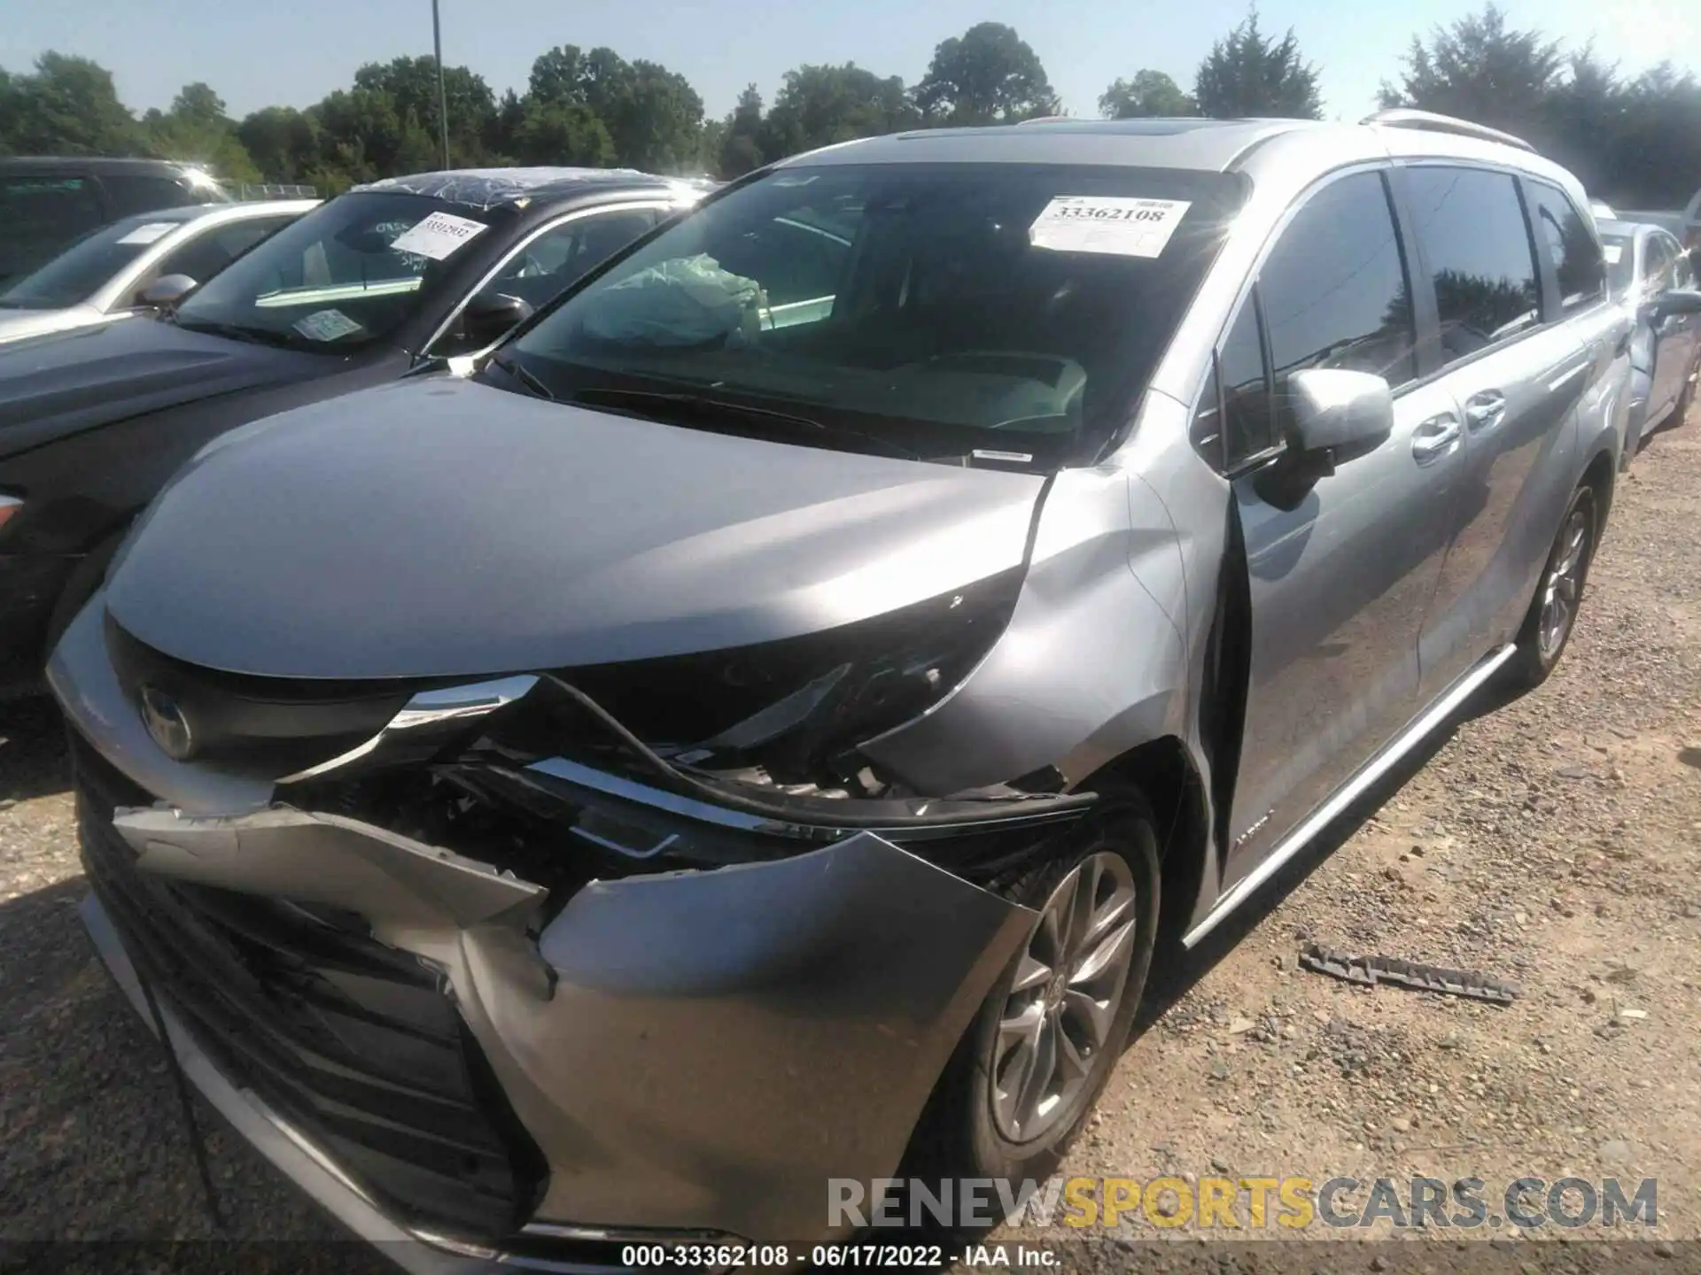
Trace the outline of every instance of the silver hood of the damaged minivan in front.
{"label": "silver hood of the damaged minivan in front", "polygon": [[213,444],[107,609],[236,673],[449,677],[793,638],[1019,566],[1044,481],[405,381]]}

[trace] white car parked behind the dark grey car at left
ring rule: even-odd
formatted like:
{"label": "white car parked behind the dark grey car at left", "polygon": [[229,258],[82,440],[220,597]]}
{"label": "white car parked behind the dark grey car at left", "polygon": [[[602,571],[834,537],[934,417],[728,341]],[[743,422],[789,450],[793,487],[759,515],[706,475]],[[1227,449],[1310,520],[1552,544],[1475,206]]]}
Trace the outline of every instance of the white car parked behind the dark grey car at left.
{"label": "white car parked behind the dark grey car at left", "polygon": [[0,343],[172,306],[316,204],[191,204],[121,218],[0,284]]}

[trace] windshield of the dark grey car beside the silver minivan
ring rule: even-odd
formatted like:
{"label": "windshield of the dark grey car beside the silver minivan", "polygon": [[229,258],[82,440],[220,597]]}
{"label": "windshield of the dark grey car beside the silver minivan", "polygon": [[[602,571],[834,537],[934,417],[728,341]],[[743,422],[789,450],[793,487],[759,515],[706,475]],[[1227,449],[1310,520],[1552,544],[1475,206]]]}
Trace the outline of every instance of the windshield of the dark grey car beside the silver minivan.
{"label": "windshield of the dark grey car beside the silver minivan", "polygon": [[219,270],[177,323],[345,354],[417,314],[495,216],[405,192],[342,196]]}

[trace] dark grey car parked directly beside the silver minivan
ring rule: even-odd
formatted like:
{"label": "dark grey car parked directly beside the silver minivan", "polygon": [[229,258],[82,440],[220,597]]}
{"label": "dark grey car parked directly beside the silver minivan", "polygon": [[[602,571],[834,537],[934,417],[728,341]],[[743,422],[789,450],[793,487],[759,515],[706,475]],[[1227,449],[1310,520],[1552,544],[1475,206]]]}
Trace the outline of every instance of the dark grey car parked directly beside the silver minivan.
{"label": "dark grey car parked directly beside the silver minivan", "polygon": [[696,196],[636,172],[424,173],[340,196],[167,320],[0,347],[0,690],[197,447],[259,416],[485,348]]}

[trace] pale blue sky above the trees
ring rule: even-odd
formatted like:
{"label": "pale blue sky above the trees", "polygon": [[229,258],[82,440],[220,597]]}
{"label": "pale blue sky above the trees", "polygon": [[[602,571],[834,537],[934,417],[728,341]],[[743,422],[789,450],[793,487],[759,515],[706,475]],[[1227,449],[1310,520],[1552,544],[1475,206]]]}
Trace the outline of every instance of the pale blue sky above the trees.
{"label": "pale blue sky above the trees", "polygon": [[[1034,46],[1072,114],[1095,114],[1118,75],[1169,71],[1186,88],[1211,41],[1245,0],[441,0],[444,61],[466,63],[500,94],[524,88],[531,60],[555,44],[607,44],[682,71],[713,116],[745,83],[772,100],[805,61],[856,61],[917,80],[934,44],[978,20],[1014,26]],[[0,66],[24,71],[44,49],[111,68],[136,110],[165,107],[206,80],[231,114],[308,105],[366,61],[430,53],[430,0],[9,0]],[[1293,27],[1322,68],[1325,116],[1357,119],[1393,76],[1414,31],[1480,8],[1480,0],[1266,0],[1266,31]],[[1662,58],[1701,65],[1701,7],[1681,0],[1504,0],[1517,27],[1568,44],[1596,41],[1626,71]]]}

